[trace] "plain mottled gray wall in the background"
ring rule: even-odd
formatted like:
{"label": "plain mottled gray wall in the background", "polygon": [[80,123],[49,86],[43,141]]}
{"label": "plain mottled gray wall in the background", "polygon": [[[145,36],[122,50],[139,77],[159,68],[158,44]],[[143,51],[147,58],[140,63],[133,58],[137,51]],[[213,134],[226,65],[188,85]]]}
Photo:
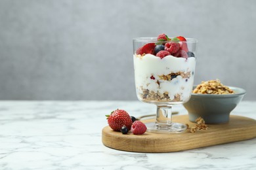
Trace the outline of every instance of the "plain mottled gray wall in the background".
{"label": "plain mottled gray wall in the background", "polygon": [[137,100],[134,37],[198,39],[196,80],[256,95],[256,1],[0,0],[0,99]]}

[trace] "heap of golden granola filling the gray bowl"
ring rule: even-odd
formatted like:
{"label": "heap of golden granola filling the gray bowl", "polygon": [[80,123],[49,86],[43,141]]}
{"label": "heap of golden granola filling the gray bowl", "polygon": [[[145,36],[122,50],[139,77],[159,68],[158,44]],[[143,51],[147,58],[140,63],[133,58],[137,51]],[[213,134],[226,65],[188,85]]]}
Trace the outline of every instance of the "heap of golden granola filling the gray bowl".
{"label": "heap of golden granola filling the gray bowl", "polygon": [[202,81],[201,84],[196,86],[193,90],[193,93],[202,93],[202,94],[231,94],[234,93],[233,90],[221,84],[219,79]]}

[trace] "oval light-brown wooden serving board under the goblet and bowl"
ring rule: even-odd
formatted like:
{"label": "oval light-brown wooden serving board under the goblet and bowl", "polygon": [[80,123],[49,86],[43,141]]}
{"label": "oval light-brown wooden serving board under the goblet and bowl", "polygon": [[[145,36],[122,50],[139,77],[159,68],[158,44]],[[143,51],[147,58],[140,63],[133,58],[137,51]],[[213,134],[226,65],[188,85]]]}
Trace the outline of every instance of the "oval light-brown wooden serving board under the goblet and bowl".
{"label": "oval light-brown wooden serving board under the goblet and bowl", "polygon": [[[188,120],[188,115],[173,116],[173,122],[188,124],[190,127],[195,125]],[[187,129],[175,134],[146,132],[143,135],[133,135],[131,132],[123,135],[106,126],[102,129],[102,143],[110,148],[131,152],[177,152],[256,137],[256,120],[244,116],[231,115],[230,121],[226,124],[208,124],[207,126],[209,129],[196,131],[196,133],[190,133]]]}

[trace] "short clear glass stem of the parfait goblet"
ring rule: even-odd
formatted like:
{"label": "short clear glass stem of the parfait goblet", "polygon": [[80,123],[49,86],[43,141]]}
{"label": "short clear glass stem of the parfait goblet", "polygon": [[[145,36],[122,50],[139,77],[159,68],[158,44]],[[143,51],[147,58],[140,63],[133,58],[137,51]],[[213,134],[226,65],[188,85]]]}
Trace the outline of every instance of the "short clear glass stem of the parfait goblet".
{"label": "short clear glass stem of the parfait goblet", "polygon": [[169,127],[172,124],[171,119],[171,106],[157,106],[156,110],[156,126],[157,127]]}

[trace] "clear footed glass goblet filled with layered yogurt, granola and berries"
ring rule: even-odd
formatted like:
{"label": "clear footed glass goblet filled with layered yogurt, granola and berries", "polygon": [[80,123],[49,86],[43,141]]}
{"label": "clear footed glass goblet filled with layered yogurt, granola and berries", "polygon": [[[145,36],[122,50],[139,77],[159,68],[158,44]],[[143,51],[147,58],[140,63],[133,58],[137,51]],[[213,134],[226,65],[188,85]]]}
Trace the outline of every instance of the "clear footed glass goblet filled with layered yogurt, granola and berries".
{"label": "clear footed glass goblet filled with layered yogurt, granola and berries", "polygon": [[172,106],[190,99],[196,68],[196,39],[156,37],[133,39],[137,97],[155,104],[156,122],[146,124],[153,133],[181,133],[186,125],[172,122]]}

